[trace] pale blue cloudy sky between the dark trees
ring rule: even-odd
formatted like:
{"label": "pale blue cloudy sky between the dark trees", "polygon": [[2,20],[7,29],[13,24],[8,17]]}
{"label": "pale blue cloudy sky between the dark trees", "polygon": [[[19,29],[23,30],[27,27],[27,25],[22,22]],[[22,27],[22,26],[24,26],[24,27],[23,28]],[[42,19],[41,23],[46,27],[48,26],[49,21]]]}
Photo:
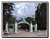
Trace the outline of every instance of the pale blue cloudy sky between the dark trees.
{"label": "pale blue cloudy sky between the dark trees", "polygon": [[35,11],[37,9],[38,3],[14,3],[13,14],[16,19],[35,17]]}

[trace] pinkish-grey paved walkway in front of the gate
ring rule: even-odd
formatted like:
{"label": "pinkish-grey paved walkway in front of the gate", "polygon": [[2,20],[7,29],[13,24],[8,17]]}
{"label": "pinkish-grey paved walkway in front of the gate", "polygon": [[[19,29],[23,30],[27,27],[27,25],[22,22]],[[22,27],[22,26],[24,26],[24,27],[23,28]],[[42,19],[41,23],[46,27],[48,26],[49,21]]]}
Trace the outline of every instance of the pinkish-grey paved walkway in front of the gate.
{"label": "pinkish-grey paved walkway in front of the gate", "polygon": [[3,35],[3,37],[47,37],[47,32],[46,30],[37,32],[19,31],[16,34]]}

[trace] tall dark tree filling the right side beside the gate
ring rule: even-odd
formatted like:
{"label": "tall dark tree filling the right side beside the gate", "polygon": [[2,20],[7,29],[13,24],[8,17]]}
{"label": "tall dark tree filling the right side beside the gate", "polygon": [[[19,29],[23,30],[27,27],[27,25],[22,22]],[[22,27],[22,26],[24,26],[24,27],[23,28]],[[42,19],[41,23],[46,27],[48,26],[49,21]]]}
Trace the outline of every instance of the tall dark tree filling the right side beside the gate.
{"label": "tall dark tree filling the right side beside the gate", "polygon": [[46,3],[39,4],[36,10],[38,29],[46,29]]}

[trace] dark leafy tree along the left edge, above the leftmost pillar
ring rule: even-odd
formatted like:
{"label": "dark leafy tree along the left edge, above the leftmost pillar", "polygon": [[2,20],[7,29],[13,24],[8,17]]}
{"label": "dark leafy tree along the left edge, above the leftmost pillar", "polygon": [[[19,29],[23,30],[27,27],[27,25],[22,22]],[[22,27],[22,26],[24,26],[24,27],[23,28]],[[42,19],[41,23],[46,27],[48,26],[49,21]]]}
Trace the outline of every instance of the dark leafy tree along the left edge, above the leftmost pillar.
{"label": "dark leafy tree along the left edge, above the leftmost pillar", "polygon": [[11,18],[12,10],[13,10],[13,3],[3,3],[3,30],[5,30],[6,22],[9,22]]}

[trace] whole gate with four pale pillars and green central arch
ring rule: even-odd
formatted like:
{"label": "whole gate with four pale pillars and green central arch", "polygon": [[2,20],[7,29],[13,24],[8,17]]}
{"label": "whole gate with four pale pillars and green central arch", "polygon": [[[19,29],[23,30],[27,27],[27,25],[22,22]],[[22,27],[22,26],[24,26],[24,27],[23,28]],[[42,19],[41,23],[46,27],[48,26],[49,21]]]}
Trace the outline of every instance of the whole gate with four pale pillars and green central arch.
{"label": "whole gate with four pale pillars and green central arch", "polygon": [[[29,24],[26,20],[22,20],[19,23],[15,22],[15,26],[14,26],[15,27],[15,33],[18,32],[18,25],[20,23],[26,23],[26,24],[28,24],[29,25],[29,31],[30,32],[33,32],[33,27],[35,28],[34,31],[37,31],[37,24],[33,25],[32,22]],[[6,24],[6,31],[9,32],[8,31],[8,23]]]}

